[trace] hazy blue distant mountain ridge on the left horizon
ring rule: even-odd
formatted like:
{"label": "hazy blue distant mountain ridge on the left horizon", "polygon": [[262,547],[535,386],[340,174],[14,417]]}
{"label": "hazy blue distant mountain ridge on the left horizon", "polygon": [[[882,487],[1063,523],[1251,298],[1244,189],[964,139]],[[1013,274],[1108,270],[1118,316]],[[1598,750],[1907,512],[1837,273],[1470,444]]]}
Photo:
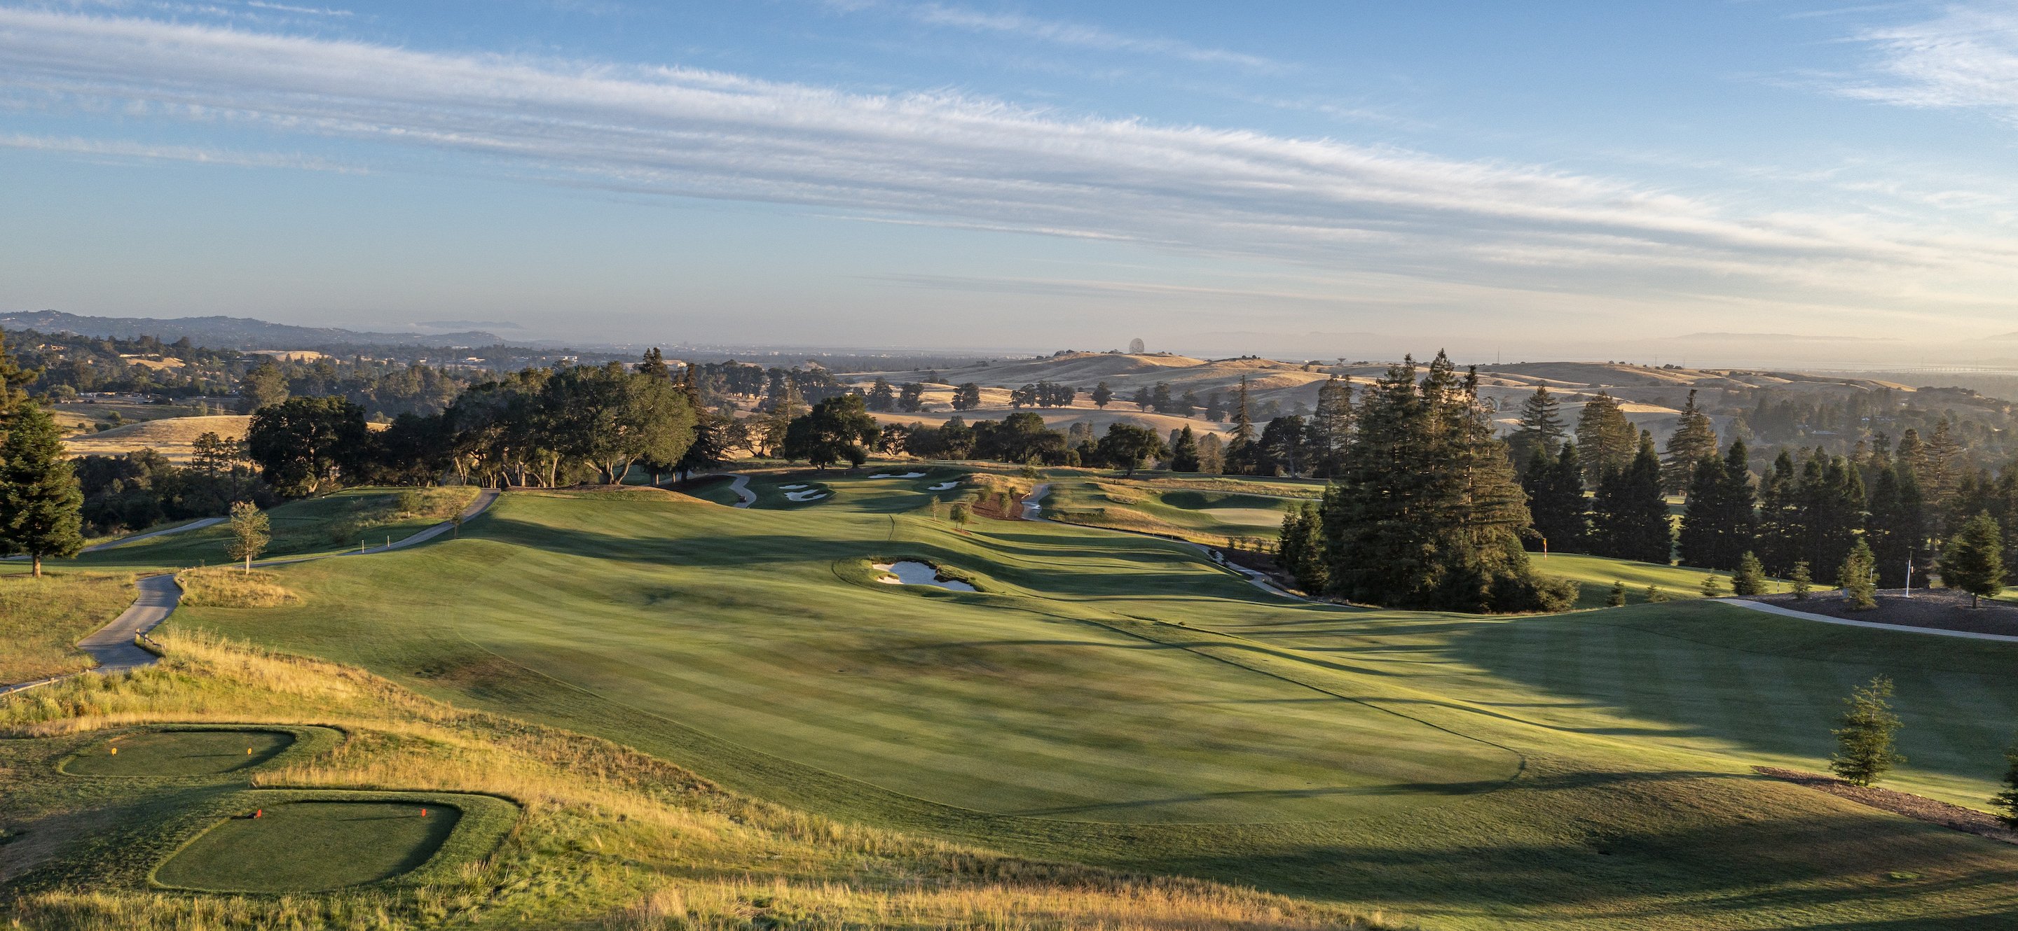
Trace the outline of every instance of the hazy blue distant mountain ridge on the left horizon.
{"label": "hazy blue distant mountain ridge on the left horizon", "polygon": [[488,330],[361,332],[337,326],[266,322],[250,316],[79,316],[63,310],[0,314],[0,326],[40,332],[75,332],[79,337],[97,339],[155,337],[163,343],[190,337],[192,343],[210,349],[494,347],[509,343]]}

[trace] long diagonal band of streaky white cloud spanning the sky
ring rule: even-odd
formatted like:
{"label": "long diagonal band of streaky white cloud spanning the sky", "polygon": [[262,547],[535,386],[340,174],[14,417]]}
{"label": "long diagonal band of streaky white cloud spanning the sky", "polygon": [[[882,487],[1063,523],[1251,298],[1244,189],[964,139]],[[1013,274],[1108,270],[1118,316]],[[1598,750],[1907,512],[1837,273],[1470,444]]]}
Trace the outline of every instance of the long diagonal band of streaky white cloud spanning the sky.
{"label": "long diagonal band of streaky white cloud spanning the sky", "polygon": [[[1340,270],[1802,300],[1982,302],[2018,242],[1867,216],[1746,214],[1620,179],[957,95],[718,71],[434,54],[0,8],[0,89],[486,159],[527,179],[1132,240]],[[50,103],[54,101],[54,103]]]}

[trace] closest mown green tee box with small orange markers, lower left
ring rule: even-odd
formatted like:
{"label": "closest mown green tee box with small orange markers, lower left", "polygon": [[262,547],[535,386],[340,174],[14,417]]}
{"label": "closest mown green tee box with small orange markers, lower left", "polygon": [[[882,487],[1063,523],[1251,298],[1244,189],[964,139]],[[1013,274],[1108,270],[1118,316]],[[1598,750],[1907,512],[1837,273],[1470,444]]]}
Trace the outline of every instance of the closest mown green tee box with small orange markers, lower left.
{"label": "closest mown green tee box with small orange markers, lower left", "polygon": [[214,893],[315,893],[379,883],[428,862],[462,812],[440,802],[281,802],[220,820],[155,871]]}

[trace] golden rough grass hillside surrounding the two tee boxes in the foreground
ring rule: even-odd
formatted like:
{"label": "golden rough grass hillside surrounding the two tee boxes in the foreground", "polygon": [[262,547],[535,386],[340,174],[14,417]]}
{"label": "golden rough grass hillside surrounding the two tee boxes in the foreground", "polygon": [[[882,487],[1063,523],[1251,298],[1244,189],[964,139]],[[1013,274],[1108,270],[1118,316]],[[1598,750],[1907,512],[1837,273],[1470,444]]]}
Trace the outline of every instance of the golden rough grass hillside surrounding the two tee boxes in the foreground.
{"label": "golden rough grass hillside surrounding the two tee boxes in the foreground", "polygon": [[[0,873],[14,893],[0,917],[36,929],[1376,927],[1281,895],[1001,856],[811,816],[605,740],[452,707],[357,669],[202,633],[165,631],[161,641],[167,657],[157,667],[0,703],[0,732],[18,738],[0,742],[0,818],[22,838]],[[127,782],[75,780],[48,764],[103,729],[204,719],[343,727],[341,744],[256,770],[258,788],[230,804],[274,788],[287,788],[283,800],[398,788],[502,796],[523,814],[494,848],[428,862],[426,883],[321,895],[149,889],[155,862],[216,824],[208,808],[178,814],[198,790],[133,780],[135,794],[109,796]]]}

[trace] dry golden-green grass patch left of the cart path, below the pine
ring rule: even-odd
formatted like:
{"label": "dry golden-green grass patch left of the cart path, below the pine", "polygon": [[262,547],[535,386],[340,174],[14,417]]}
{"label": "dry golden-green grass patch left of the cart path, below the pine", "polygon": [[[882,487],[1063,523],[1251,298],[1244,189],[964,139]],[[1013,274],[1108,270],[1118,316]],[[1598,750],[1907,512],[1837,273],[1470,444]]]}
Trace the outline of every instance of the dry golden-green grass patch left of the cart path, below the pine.
{"label": "dry golden-green grass patch left of the cart path, below the pine", "polygon": [[133,603],[125,572],[42,572],[0,564],[0,685],[91,669],[77,649]]}

